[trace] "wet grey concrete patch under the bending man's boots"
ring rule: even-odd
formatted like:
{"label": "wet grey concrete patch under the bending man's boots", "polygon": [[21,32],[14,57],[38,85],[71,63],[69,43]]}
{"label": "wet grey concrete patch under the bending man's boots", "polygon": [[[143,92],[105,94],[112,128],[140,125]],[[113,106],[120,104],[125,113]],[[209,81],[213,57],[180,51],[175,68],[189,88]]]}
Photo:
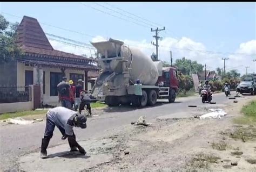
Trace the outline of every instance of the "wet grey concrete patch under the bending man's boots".
{"label": "wet grey concrete patch under the bending man's boots", "polygon": [[[102,144],[102,143],[107,144]],[[25,171],[80,171],[97,164],[110,162],[113,158],[109,147],[116,146],[111,139],[80,141],[86,155],[70,152],[68,144],[48,148],[48,159],[41,159],[40,153],[31,153],[19,158],[19,169]],[[96,148],[96,149],[93,149]],[[105,149],[105,151],[102,151]],[[97,151],[100,150],[100,151]]]}

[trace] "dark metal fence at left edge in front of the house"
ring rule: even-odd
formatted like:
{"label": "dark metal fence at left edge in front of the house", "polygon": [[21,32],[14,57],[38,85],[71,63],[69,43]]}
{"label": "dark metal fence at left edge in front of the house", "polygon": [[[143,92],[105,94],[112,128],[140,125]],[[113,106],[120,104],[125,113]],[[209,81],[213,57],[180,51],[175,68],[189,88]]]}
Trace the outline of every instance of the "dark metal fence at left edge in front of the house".
{"label": "dark metal fence at left edge in front of the house", "polygon": [[0,103],[30,102],[31,87],[0,87]]}

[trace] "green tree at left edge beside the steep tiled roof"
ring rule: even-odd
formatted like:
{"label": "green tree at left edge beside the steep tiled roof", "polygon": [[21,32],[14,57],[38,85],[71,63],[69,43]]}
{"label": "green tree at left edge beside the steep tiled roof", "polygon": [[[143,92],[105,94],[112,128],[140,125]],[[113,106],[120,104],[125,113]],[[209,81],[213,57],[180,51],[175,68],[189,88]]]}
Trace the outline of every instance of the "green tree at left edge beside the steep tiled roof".
{"label": "green tree at left edge beside the steep tiled roof", "polygon": [[21,48],[15,44],[18,24],[11,25],[0,15],[0,63],[9,62],[22,55]]}

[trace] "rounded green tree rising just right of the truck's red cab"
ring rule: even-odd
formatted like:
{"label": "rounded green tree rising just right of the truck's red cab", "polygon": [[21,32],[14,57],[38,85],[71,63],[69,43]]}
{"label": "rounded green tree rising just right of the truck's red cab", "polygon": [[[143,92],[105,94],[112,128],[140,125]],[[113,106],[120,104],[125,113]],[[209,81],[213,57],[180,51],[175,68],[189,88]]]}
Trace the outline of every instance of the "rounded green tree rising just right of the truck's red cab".
{"label": "rounded green tree rising just right of the truck's red cab", "polygon": [[191,61],[185,57],[177,59],[174,64],[184,75],[191,75],[197,72],[201,72],[204,69],[203,64],[197,63],[197,61]]}

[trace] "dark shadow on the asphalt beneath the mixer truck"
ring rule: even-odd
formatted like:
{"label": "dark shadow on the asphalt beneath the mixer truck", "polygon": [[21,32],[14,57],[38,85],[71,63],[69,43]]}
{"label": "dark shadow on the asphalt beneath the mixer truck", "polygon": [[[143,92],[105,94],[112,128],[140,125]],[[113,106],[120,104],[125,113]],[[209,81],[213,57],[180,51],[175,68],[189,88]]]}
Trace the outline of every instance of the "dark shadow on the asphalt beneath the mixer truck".
{"label": "dark shadow on the asphalt beneath the mixer truck", "polygon": [[146,106],[146,107],[133,107],[132,105],[120,105],[118,107],[105,107],[103,109],[104,112],[128,112],[128,111],[134,111],[138,109],[147,109],[151,107],[157,107],[165,104],[176,104],[176,103],[182,103],[182,102],[174,102],[174,103],[169,103],[169,102],[157,102],[156,105],[153,106]]}

